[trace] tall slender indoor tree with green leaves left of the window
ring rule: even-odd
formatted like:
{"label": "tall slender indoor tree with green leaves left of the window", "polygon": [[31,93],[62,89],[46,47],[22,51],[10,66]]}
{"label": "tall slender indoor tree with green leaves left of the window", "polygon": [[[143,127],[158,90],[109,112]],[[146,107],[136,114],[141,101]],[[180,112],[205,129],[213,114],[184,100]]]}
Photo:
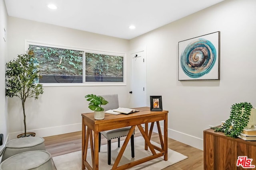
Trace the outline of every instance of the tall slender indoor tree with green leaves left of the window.
{"label": "tall slender indoor tree with green leaves left of the window", "polygon": [[24,118],[24,134],[21,137],[30,136],[26,132],[25,102],[27,98],[38,99],[43,94],[42,84],[37,84],[39,79],[39,65],[35,64],[35,55],[32,50],[18,55],[14,60],[6,63],[6,89],[5,95],[12,98],[20,98]]}

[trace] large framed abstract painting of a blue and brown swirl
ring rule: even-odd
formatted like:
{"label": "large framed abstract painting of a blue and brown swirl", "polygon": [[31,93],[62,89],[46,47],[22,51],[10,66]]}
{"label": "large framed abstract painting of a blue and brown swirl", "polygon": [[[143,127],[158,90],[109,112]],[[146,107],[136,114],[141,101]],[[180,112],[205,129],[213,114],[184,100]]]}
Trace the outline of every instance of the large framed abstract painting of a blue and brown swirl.
{"label": "large framed abstract painting of a blue and brown swirl", "polygon": [[220,31],[178,42],[178,80],[220,80]]}

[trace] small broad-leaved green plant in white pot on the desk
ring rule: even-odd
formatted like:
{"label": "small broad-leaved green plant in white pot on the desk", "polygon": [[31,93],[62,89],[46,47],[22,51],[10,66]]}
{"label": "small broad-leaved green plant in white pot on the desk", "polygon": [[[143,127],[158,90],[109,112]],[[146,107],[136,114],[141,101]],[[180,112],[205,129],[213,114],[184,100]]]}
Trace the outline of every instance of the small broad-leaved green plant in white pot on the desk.
{"label": "small broad-leaved green plant in white pot on the desk", "polygon": [[97,96],[95,94],[88,94],[84,96],[87,101],[89,101],[89,109],[94,111],[94,119],[96,120],[102,120],[105,117],[104,108],[101,107],[102,105],[108,104],[108,101],[106,101],[102,96]]}

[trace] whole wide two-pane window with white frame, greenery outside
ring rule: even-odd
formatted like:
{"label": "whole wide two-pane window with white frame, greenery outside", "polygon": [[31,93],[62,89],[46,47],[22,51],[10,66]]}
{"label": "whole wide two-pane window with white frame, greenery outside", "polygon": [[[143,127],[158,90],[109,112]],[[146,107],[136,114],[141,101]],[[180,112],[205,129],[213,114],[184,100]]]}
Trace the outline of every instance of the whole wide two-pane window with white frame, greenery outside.
{"label": "whole wide two-pane window with white frame, greenery outside", "polygon": [[104,82],[124,82],[124,54],[59,48],[32,42],[28,42],[28,48],[34,51],[35,63],[40,66],[39,83],[104,85]]}

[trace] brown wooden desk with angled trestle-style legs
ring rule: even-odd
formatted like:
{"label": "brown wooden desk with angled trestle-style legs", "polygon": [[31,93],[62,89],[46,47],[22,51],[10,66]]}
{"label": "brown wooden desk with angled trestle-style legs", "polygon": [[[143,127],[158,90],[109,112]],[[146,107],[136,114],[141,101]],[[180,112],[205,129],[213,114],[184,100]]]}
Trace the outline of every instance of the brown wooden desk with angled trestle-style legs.
{"label": "brown wooden desk with angled trestle-style legs", "polygon": [[[138,107],[138,108],[134,108],[134,109],[138,109],[140,111],[136,112],[136,113],[131,113],[128,115],[105,114],[105,118],[103,120],[95,120],[94,113],[82,113],[82,170],[84,170],[85,168],[87,168],[88,170],[98,170],[99,169],[98,136],[99,136],[100,131],[106,131],[106,130],[117,129],[117,128],[121,128],[121,127],[128,127],[128,126],[131,126],[131,129],[124,141],[122,148],[120,149],[120,152],[116,158],[116,161],[114,162],[112,170],[127,169],[132,166],[136,166],[138,164],[142,164],[149,160],[158,158],[160,156],[164,156],[164,160],[168,159],[168,155],[167,155],[168,111],[166,111],[166,110],[150,111],[150,107]],[[160,123],[159,123],[159,121],[161,121],[161,120],[164,120],[164,140],[162,137]],[[156,147],[155,145],[152,145],[150,143],[150,138],[152,135],[154,122],[156,122],[157,127],[158,127],[158,134],[159,134],[159,139],[160,139],[160,143],[161,143],[161,148]],[[141,126],[141,124],[143,124],[143,123],[145,123],[145,130]],[[148,133],[148,123],[151,123],[149,133]],[[87,126],[87,131],[86,131],[86,126]],[[149,148],[152,152],[152,155],[148,156],[146,158],[142,158],[140,160],[136,160],[134,162],[130,162],[129,164],[124,164],[124,165],[118,166],[120,159],[124,153],[124,150],[129,142],[129,139],[132,136],[132,132],[136,126],[138,127],[138,129],[140,130],[140,133],[142,134],[142,136],[145,139],[145,150],[147,150]],[[93,140],[92,131],[94,131],[94,140]],[[90,148],[91,148],[91,154],[92,154],[92,166],[86,160],[89,138],[90,138]],[[158,150],[159,153],[156,153],[155,149]]]}

